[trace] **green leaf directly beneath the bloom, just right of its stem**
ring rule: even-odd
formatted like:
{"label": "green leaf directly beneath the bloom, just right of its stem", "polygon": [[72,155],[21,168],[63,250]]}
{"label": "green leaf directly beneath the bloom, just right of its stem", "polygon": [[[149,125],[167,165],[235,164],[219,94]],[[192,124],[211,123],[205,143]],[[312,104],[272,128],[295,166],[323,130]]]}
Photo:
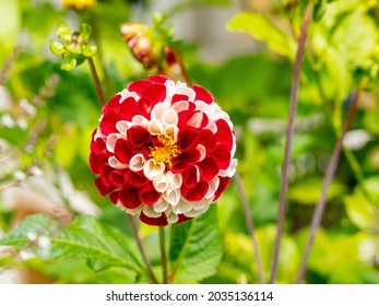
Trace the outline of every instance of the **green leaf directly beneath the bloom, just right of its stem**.
{"label": "green leaf directly beneath the bloom, just right of its stem", "polygon": [[196,282],[213,275],[222,257],[217,209],[173,226],[169,258],[174,282]]}

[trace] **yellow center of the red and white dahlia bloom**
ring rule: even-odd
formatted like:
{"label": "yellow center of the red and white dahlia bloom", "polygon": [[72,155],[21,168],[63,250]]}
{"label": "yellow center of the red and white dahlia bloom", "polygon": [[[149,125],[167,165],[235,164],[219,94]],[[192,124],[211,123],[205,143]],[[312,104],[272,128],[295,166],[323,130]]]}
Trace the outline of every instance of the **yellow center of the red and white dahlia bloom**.
{"label": "yellow center of the red and white dahlia bloom", "polygon": [[165,165],[171,167],[173,158],[179,156],[180,150],[178,145],[174,143],[171,137],[158,136],[158,141],[163,144],[162,146],[151,148],[150,157],[153,157],[156,163],[164,163]]}

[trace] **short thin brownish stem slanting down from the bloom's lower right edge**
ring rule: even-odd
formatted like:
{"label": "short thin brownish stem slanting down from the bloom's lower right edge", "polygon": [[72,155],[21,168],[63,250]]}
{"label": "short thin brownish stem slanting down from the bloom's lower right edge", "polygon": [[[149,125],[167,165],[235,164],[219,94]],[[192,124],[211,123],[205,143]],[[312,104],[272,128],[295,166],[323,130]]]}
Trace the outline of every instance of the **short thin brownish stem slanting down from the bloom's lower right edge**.
{"label": "short thin brownish stem slanting down from the bloom's lower right edge", "polygon": [[234,181],[236,184],[236,187],[237,187],[237,190],[239,193],[239,198],[240,198],[241,203],[242,203],[245,221],[246,221],[246,225],[247,225],[247,228],[248,228],[248,232],[250,235],[252,249],[254,251],[256,264],[257,264],[257,270],[258,270],[258,279],[259,279],[259,282],[261,284],[264,284],[265,281],[264,281],[263,266],[262,266],[262,260],[261,260],[261,256],[260,256],[260,251],[259,251],[258,240],[257,240],[257,237],[254,234],[254,225],[253,225],[253,221],[251,219],[251,210],[249,207],[249,200],[248,200],[248,197],[246,196],[246,192],[244,190],[244,185],[242,185],[241,178],[237,172],[234,175]]}

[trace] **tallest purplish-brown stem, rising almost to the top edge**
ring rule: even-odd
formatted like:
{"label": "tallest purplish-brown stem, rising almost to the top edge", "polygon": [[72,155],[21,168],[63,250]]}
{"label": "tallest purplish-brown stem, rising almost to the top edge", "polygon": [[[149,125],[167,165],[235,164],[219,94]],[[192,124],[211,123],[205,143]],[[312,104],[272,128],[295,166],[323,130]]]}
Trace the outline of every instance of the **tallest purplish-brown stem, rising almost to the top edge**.
{"label": "tallest purplish-brown stem, rising almost to the top edge", "polygon": [[312,11],[312,5],[309,4],[304,15],[304,21],[301,24],[300,37],[299,37],[296,59],[295,59],[294,75],[292,80],[289,118],[288,118],[288,127],[286,132],[286,142],[285,142],[285,150],[284,150],[284,161],[283,161],[282,175],[281,175],[281,190],[280,190],[280,202],[279,202],[279,211],[277,211],[277,229],[276,229],[276,238],[275,238],[275,245],[274,245],[274,254],[273,254],[273,259],[271,264],[270,283],[274,283],[276,279],[279,256],[280,256],[282,236],[284,231],[283,227],[284,227],[286,197],[287,197],[287,189],[288,189],[291,151],[292,151],[292,144],[294,140],[295,117],[296,117],[296,109],[297,109],[297,92],[299,87],[300,67],[301,67],[303,54],[304,54],[304,48],[305,48],[305,43],[307,37],[308,24],[311,17],[311,11]]}

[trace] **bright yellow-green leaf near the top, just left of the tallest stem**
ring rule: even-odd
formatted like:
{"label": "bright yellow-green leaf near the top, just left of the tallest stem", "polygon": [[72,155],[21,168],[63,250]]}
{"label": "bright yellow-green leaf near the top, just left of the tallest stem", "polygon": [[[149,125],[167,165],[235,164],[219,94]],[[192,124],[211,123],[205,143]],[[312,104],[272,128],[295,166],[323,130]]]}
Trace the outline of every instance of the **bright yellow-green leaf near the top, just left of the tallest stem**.
{"label": "bright yellow-green leaf near the top, just left of the tallest stem", "polygon": [[245,32],[256,39],[263,40],[268,47],[289,58],[294,58],[296,44],[285,33],[277,28],[267,16],[241,12],[236,14],[226,25],[228,31]]}

